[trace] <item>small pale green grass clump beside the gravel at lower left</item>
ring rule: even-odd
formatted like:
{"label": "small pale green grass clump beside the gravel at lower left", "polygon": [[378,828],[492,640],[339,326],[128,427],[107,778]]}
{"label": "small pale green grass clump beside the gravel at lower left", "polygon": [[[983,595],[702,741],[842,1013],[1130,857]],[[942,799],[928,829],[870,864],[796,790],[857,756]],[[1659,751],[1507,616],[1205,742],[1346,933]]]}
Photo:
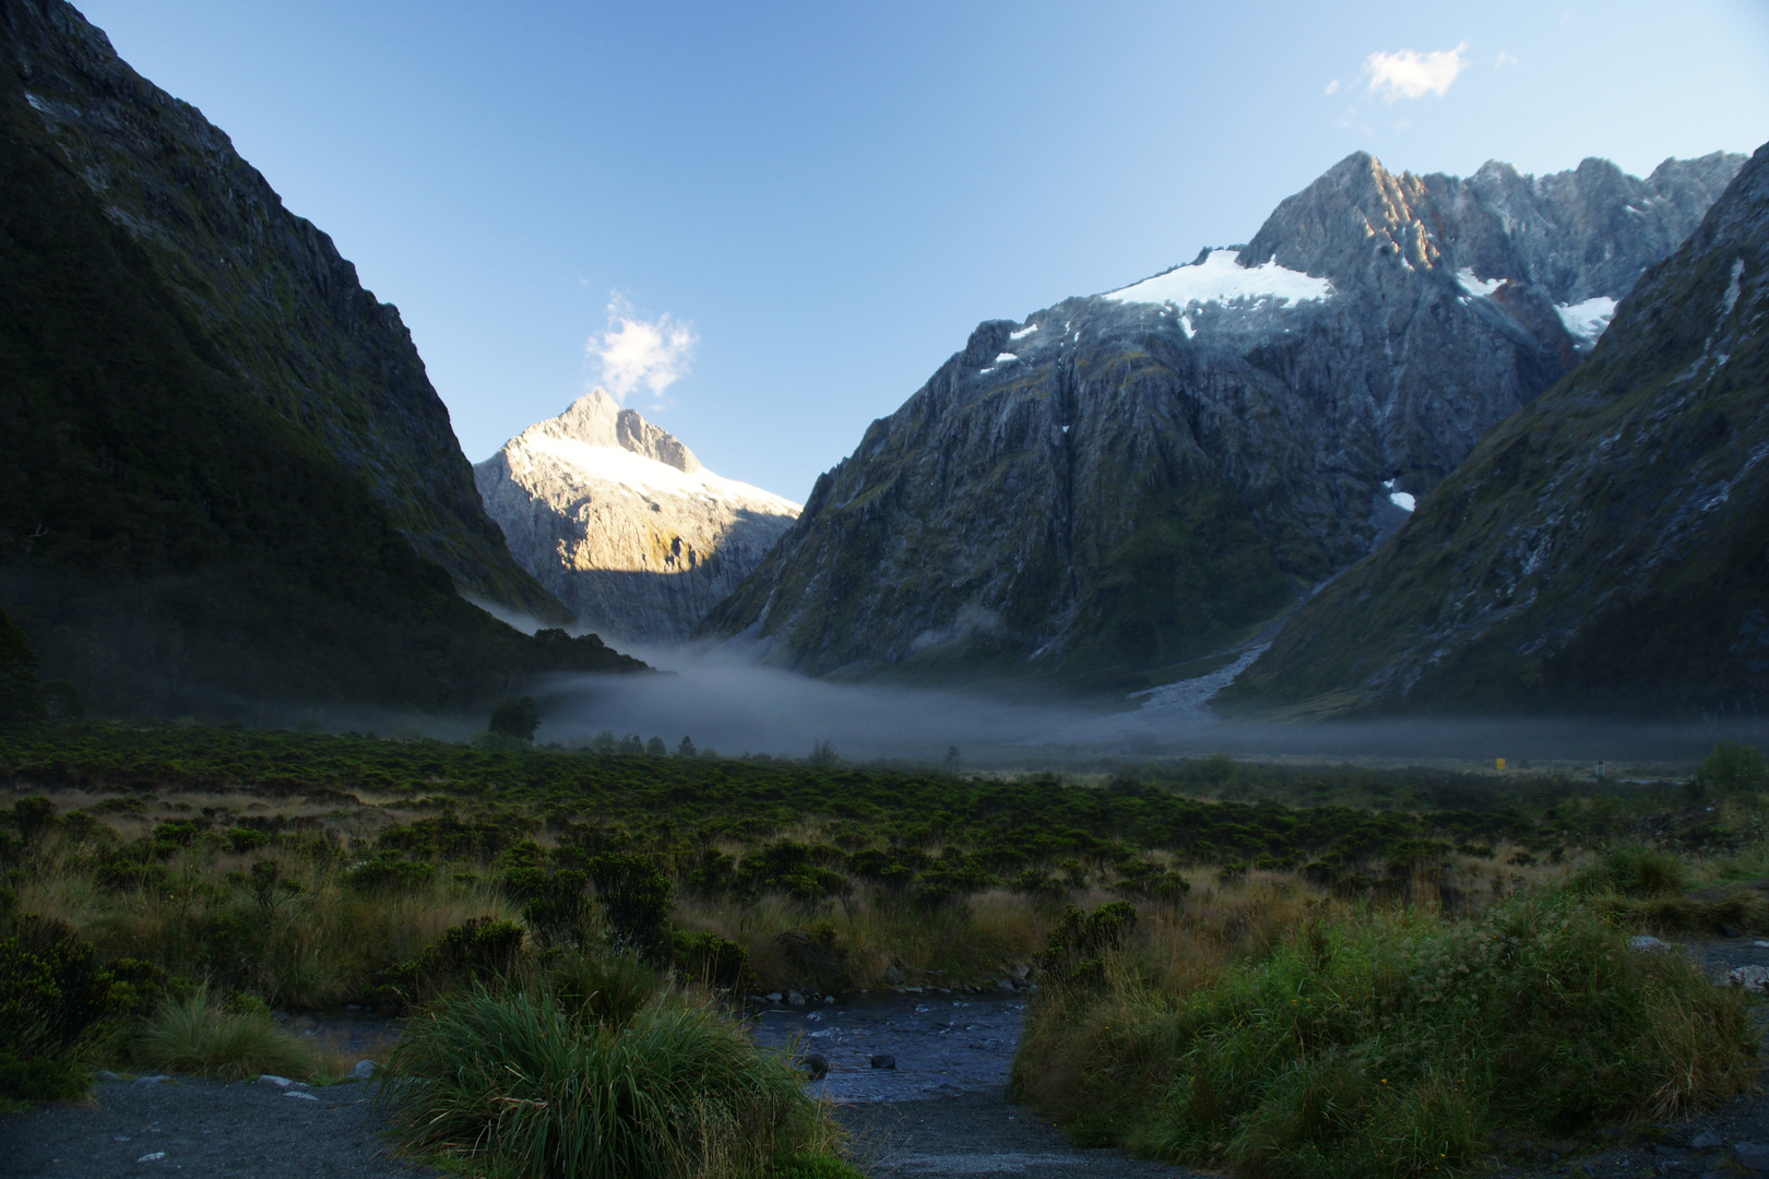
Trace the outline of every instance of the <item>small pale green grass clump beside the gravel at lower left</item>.
{"label": "small pale green grass clump beside the gravel at lower left", "polygon": [[198,988],[168,1000],[136,1032],[129,1055],[150,1069],[246,1080],[274,1073],[311,1078],[318,1050],[276,1025],[269,1011],[223,1011]]}

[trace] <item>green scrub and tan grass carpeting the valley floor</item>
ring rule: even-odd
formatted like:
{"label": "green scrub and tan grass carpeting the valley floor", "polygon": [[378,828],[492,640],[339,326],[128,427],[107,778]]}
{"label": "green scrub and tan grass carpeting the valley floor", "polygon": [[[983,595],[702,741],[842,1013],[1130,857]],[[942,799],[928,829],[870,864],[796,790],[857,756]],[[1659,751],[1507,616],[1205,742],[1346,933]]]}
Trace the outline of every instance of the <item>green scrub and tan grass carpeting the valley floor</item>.
{"label": "green scrub and tan grass carpeting the valley floor", "polygon": [[[665,748],[7,732],[16,910],[110,972],[117,1008],[92,1029],[159,1027],[64,1036],[23,1071],[58,1061],[78,1084],[104,1052],[225,1071],[218,1052],[274,1046],[253,1004],[448,1011],[394,1064],[449,1062],[458,1091],[402,1124],[414,1147],[462,1151],[492,1107],[577,1108],[474,1082],[472,1029],[531,1031],[534,1084],[603,1069],[669,1092],[676,1073],[649,1078],[617,1050],[639,1011],[711,1036],[685,1068],[713,1076],[738,1043],[713,995],[1031,969],[1022,1098],[1081,1140],[1247,1174],[1424,1174],[1495,1130],[1693,1107],[1750,1073],[1739,995],[1622,940],[1769,932],[1762,894],[1727,889],[1769,875],[1769,765],[1746,746],[1652,783],[1221,757],[961,776],[844,765],[826,746],[803,762]],[[1574,1085],[1597,1045],[1608,1071]],[[701,1122],[660,1098],[621,1151],[757,1174],[807,1149],[828,1160],[824,1130],[777,1103],[780,1068],[754,1064]],[[1507,1105],[1525,1080],[1566,1094],[1558,1112]],[[524,1119],[532,1142],[485,1165],[547,1174],[593,1133]]]}

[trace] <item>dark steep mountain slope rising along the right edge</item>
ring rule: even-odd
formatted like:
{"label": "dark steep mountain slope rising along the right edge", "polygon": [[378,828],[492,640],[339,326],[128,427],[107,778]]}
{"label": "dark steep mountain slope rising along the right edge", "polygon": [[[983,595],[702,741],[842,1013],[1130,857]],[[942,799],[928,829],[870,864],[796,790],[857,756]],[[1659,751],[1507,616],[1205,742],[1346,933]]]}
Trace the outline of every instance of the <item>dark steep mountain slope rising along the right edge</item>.
{"label": "dark steep mountain slope rising along the right edge", "polygon": [[1769,147],[1590,359],[1304,606],[1222,707],[1762,716],[1765,389]]}

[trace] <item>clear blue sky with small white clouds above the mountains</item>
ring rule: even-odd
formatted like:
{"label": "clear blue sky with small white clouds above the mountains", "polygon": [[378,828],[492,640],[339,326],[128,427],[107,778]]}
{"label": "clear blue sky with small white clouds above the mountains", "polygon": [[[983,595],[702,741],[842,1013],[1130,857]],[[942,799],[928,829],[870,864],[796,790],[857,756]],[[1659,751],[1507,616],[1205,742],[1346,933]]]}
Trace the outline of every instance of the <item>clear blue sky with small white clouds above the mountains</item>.
{"label": "clear blue sky with small white clouds above the mountains", "polygon": [[1348,152],[1769,140],[1762,0],[81,11],[398,304],[471,460],[612,364],[798,500],[976,322],[1245,240]]}

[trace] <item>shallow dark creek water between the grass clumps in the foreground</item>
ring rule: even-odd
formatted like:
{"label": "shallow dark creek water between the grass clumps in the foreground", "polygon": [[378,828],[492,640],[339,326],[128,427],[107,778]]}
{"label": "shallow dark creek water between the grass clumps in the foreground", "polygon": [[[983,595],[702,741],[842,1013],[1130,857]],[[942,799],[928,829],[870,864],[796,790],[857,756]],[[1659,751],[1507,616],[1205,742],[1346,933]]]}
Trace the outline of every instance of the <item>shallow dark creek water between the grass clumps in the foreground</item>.
{"label": "shallow dark creek water between the grass clumps in the foreground", "polygon": [[[854,995],[810,1008],[755,1008],[755,1041],[821,1052],[830,1075],[805,1092],[835,1101],[918,1101],[1007,1085],[1024,995]],[[892,1055],[897,1068],[870,1066]]]}

